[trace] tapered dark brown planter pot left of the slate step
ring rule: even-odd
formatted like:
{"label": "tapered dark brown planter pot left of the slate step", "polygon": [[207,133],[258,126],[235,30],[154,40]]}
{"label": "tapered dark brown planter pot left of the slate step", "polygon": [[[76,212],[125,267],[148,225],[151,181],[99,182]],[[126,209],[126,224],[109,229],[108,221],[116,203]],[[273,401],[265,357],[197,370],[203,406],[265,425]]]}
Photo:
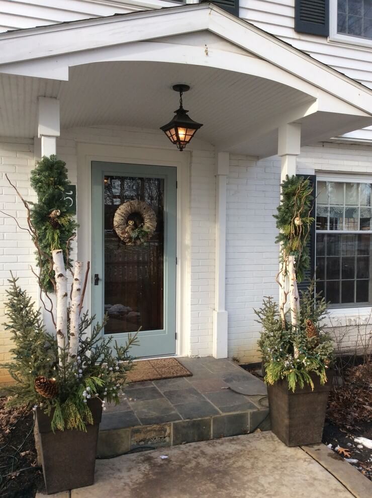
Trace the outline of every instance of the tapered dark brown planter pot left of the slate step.
{"label": "tapered dark brown planter pot left of the slate step", "polygon": [[66,430],[53,433],[50,427],[51,417],[39,408],[36,410],[41,460],[48,494],[94,483],[102,405],[99,399],[89,399],[88,406],[94,425],[87,425],[86,432]]}

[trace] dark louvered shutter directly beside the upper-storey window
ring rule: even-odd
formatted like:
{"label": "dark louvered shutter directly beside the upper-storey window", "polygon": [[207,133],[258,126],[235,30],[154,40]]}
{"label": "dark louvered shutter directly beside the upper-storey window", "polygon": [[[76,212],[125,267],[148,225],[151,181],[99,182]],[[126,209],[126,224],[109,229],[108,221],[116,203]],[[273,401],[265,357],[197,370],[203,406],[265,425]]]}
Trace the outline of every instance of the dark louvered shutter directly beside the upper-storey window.
{"label": "dark louvered shutter directly beside the upper-storey window", "polygon": [[295,31],[329,35],[329,0],[296,0]]}

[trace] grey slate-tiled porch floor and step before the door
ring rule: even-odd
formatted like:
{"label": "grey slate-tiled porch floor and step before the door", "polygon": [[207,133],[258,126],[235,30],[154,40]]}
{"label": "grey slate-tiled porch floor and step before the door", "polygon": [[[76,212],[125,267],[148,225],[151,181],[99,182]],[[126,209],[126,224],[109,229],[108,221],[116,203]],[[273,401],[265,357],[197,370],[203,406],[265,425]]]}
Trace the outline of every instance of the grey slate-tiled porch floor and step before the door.
{"label": "grey slate-tiled porch floor and step before the door", "polygon": [[269,428],[264,383],[230,360],[180,358],[192,377],[135,382],[108,406],[98,455],[206,441]]}

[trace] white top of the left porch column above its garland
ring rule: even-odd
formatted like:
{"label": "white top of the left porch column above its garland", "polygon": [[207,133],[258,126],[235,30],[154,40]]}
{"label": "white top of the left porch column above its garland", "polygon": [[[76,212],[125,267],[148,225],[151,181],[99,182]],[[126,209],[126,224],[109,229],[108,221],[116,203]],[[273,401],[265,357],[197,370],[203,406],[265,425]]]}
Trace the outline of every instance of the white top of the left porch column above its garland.
{"label": "white top of the left porch column above its garland", "polygon": [[[59,100],[39,97],[38,138],[40,158],[56,154],[59,136]],[[35,154],[36,155],[36,154]]]}

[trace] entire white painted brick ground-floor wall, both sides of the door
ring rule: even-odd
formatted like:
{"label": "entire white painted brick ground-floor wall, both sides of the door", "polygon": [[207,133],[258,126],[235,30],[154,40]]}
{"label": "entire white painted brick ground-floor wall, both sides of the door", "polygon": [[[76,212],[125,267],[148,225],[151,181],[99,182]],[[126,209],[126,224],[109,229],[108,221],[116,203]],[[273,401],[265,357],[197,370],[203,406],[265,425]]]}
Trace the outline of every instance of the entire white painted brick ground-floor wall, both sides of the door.
{"label": "entire white painted brick ground-floor wall, both sides of the door", "polygon": [[[152,131],[120,127],[94,127],[63,132],[57,141],[57,154],[65,160],[69,178],[76,183],[76,143],[131,144],[158,147],[158,135]],[[197,142],[196,142],[197,143]],[[166,153],[166,152],[164,152]],[[25,222],[22,204],[5,180],[5,173],[30,200],[35,199],[29,187],[34,167],[33,141],[0,139],[1,202],[0,209]],[[305,147],[299,156],[299,172],[313,174],[331,171],[335,174],[370,174],[372,181],[372,147],[326,144]],[[280,160],[277,157],[255,161],[246,156],[231,156],[227,186],[226,309],[229,312],[229,356],[240,361],[259,361],[256,341],[259,325],[253,308],[267,295],[277,297],[274,281],[278,268],[278,248],[274,244],[276,229],[272,214],[280,194]],[[78,195],[78,188],[77,188]],[[213,308],[215,298],[215,153],[208,146],[193,150],[190,168],[190,277],[191,277],[191,355],[212,354]],[[83,222],[83,214],[79,222]],[[4,292],[9,270],[20,277],[20,284],[37,300],[37,286],[29,265],[34,261],[33,245],[26,232],[14,220],[0,213],[0,321],[4,321]],[[364,308],[365,311],[365,308]],[[351,314],[350,314],[351,313]],[[355,321],[353,311],[348,317]],[[357,312],[355,311],[357,314]],[[342,317],[333,311],[333,316]],[[337,322],[340,324],[340,322]],[[355,327],[349,334],[354,344]],[[9,334],[0,335],[0,365],[9,359]],[[0,382],[7,380],[0,373]]]}

